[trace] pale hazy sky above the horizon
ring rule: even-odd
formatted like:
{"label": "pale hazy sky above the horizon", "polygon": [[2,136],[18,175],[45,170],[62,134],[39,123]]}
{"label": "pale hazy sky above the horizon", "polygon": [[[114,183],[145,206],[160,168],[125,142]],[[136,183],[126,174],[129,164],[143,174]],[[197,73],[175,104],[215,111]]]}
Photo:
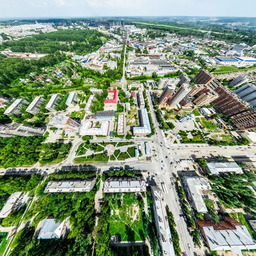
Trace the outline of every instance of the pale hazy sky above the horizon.
{"label": "pale hazy sky above the horizon", "polygon": [[256,17],[256,0],[0,0],[4,17]]}

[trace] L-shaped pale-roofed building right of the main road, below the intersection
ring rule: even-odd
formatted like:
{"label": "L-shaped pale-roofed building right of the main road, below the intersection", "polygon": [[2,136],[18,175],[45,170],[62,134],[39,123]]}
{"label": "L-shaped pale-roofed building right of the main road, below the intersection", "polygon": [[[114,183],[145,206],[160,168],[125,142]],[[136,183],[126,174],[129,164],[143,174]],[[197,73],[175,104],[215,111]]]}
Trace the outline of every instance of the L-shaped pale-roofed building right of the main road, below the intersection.
{"label": "L-shaped pale-roofed building right of the main road, below the intersection", "polygon": [[184,176],[184,187],[187,191],[189,199],[192,201],[193,207],[198,212],[207,212],[207,207],[202,198],[203,190],[211,190],[208,180],[200,176]]}

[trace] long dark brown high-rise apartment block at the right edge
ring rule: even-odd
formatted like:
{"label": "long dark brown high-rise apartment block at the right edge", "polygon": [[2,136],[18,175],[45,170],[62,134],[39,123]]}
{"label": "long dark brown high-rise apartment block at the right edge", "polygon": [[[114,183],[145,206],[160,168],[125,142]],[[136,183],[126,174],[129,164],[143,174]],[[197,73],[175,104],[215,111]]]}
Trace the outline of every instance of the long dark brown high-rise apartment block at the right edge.
{"label": "long dark brown high-rise apartment block at the right edge", "polygon": [[215,108],[232,118],[232,122],[240,130],[256,128],[256,111],[252,106],[241,100],[239,96],[225,86],[215,89],[219,97],[215,101]]}

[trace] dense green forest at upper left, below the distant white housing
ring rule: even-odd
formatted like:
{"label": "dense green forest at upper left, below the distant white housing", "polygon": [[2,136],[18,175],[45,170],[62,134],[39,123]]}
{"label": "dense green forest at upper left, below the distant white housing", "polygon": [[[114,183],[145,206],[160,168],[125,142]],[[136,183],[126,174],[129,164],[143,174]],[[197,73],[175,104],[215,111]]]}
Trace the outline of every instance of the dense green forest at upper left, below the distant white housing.
{"label": "dense green forest at upper left, below the distant white housing", "polygon": [[[76,54],[87,54],[102,46],[104,42],[102,42],[101,37],[106,38],[104,34],[95,30],[58,30],[17,41],[3,42],[0,49],[9,48],[13,52],[54,53],[56,51],[70,51],[76,52]],[[66,42],[67,44],[60,44],[59,42]]]}

